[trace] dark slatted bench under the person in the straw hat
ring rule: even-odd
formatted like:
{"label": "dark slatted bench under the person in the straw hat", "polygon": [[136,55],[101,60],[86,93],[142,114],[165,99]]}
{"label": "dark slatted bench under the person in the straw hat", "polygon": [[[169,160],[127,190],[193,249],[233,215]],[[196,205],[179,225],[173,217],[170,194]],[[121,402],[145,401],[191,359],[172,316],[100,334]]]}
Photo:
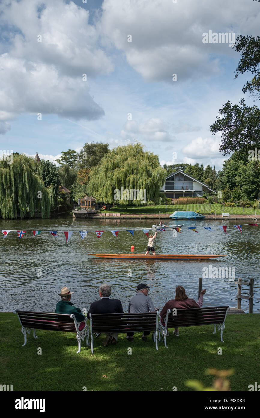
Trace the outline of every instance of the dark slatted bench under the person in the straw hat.
{"label": "dark slatted bench under the person in the straw hat", "polygon": [[86,337],[86,345],[88,343],[89,327],[86,323],[87,318],[84,320],[85,326],[81,331],[79,330],[81,322],[76,321],[75,315],[66,314],[52,314],[49,312],[32,312],[32,311],[14,311],[14,314],[18,315],[20,324],[22,326],[22,334],[24,335],[24,344],[27,342],[27,334],[30,334],[33,329],[33,337],[35,336],[36,329],[45,329],[48,331],[63,331],[63,332],[76,332],[76,339],[78,340],[78,351],[81,351],[81,340]]}

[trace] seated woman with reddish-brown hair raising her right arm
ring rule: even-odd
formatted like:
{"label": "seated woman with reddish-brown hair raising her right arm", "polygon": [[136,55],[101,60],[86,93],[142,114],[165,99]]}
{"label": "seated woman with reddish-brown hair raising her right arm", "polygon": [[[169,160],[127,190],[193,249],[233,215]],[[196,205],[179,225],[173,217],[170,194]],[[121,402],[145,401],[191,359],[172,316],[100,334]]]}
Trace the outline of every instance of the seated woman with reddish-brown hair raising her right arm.
{"label": "seated woman with reddish-brown hair raising her right arm", "polygon": [[[182,286],[177,286],[175,289],[175,299],[171,299],[167,303],[165,303],[164,307],[162,308],[162,311],[160,312],[161,321],[164,325],[164,318],[167,314],[167,309],[185,309],[185,308],[201,308],[203,303],[203,296],[206,293],[206,289],[203,289],[200,292],[199,300],[197,302],[194,301],[194,299],[189,299],[186,295],[185,289]],[[168,333],[168,330],[167,330]],[[179,336],[179,328],[174,329],[174,334],[176,336]]]}

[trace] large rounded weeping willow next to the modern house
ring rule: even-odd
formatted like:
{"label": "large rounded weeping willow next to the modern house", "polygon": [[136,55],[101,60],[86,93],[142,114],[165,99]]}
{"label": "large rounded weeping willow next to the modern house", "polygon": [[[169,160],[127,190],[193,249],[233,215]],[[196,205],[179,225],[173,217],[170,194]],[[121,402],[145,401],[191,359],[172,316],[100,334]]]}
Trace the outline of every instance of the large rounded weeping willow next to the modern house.
{"label": "large rounded weeping willow next to the modern house", "polygon": [[[121,146],[107,153],[91,169],[88,194],[103,203],[141,204],[159,196],[165,176],[158,156],[145,152],[140,143]],[[137,193],[131,194],[131,190]]]}

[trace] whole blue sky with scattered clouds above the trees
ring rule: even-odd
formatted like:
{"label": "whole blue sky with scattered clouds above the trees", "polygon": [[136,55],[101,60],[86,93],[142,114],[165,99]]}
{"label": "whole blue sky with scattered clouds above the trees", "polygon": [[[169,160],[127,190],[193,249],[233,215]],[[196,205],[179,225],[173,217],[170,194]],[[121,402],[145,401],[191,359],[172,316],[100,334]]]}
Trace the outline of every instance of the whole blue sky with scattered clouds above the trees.
{"label": "whole blue sky with scattered clouds above the trees", "polygon": [[[1,150],[55,162],[86,142],[141,142],[162,165],[222,169],[210,125],[227,100],[255,104],[230,44],[259,35],[259,4],[83,1],[1,1]],[[230,41],[204,43],[210,31]]]}

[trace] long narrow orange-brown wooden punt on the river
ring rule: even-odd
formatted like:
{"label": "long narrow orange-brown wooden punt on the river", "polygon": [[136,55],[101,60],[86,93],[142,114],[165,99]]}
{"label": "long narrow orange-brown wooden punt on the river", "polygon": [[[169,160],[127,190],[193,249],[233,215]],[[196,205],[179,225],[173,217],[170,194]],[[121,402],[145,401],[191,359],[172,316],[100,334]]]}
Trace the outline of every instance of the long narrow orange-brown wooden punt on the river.
{"label": "long narrow orange-brown wooden punt on the river", "polygon": [[226,257],[226,255],[214,254],[91,254],[94,257],[100,258],[119,258],[127,260],[207,260],[208,258]]}

